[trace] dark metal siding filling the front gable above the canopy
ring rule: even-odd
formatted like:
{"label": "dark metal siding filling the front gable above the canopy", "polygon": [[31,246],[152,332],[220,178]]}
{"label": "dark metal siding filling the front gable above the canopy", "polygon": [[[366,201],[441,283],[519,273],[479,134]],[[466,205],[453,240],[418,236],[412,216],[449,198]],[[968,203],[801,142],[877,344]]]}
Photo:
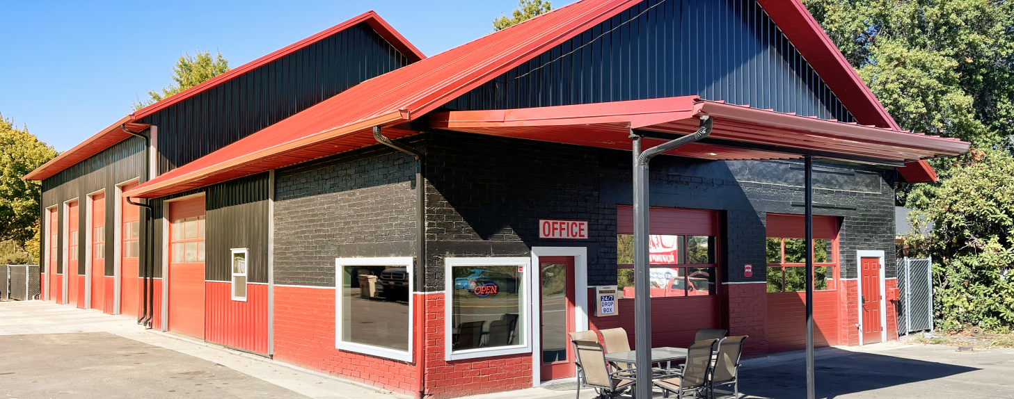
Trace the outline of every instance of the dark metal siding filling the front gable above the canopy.
{"label": "dark metal siding filling the front gable above the canopy", "polygon": [[505,109],[681,95],[854,122],[753,0],[646,0],[446,106]]}

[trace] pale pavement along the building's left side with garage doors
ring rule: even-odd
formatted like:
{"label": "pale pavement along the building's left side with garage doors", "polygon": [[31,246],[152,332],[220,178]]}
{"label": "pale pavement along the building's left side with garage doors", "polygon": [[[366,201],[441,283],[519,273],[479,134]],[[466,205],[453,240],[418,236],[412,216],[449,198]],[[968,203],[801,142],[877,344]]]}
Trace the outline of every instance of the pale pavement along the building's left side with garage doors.
{"label": "pale pavement along the building's left side with garage doors", "polygon": [[0,302],[0,396],[408,398],[52,302]]}

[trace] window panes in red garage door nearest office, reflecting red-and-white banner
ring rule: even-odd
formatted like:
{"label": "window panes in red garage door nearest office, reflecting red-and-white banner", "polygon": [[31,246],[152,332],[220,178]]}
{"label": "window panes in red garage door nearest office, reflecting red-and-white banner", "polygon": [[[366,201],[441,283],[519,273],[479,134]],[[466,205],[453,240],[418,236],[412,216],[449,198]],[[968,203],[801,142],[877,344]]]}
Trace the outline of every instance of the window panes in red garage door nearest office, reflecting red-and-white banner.
{"label": "window panes in red garage door nearest office, reflecting red-and-white banner", "polygon": [[[651,297],[716,295],[715,237],[651,235],[648,255]],[[634,236],[617,236],[620,298],[634,298]],[[683,266],[683,265],[694,265]]]}

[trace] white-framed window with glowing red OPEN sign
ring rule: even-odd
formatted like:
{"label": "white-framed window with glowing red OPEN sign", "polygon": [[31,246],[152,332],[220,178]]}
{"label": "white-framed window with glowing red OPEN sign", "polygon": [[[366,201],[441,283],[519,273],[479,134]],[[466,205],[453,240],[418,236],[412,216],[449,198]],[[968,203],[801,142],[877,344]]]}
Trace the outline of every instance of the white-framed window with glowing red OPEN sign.
{"label": "white-framed window with glowing red OPEN sign", "polygon": [[448,360],[527,347],[528,263],[528,258],[447,258]]}

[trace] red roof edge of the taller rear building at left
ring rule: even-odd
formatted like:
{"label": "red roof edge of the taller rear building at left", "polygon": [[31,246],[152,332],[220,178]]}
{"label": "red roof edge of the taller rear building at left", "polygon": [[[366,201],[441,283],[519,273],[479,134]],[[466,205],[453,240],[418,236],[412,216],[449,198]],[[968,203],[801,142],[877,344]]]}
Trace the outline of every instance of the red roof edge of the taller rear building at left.
{"label": "red roof edge of the taller rear building at left", "polygon": [[114,144],[117,144],[120,141],[128,138],[129,135],[123,133],[123,131],[120,130],[121,124],[128,124],[129,127],[133,126],[134,128],[131,129],[131,131],[133,132],[139,132],[141,130],[144,130],[148,127],[148,125],[134,124],[133,121],[140,121],[145,116],[148,116],[159,110],[165,109],[166,107],[172,104],[175,104],[187,98],[200,94],[205,90],[208,90],[212,87],[225,83],[233,78],[236,78],[247,72],[250,72],[257,69],[258,67],[264,66],[268,63],[271,63],[272,61],[278,60],[282,57],[292,54],[300,49],[303,49],[309,45],[312,45],[316,42],[327,38],[332,34],[345,30],[350,26],[355,26],[356,24],[361,22],[365,22],[370,27],[372,27],[373,30],[377,32],[377,34],[386,39],[387,43],[389,43],[391,46],[393,46],[395,49],[402,52],[402,54],[408,57],[410,62],[417,62],[426,58],[426,56],[423,55],[423,53],[420,52],[419,49],[416,49],[415,46],[409,43],[409,41],[405,38],[405,36],[403,36],[402,33],[399,33],[397,30],[394,30],[394,28],[387,23],[387,21],[383,20],[383,18],[380,18],[380,15],[378,15],[374,11],[367,11],[352,19],[339,23],[335,26],[324,29],[302,41],[296,42],[267,56],[261,57],[246,64],[240,65],[239,67],[231,69],[226,73],[208,79],[207,81],[197,86],[191,87],[171,97],[158,101],[154,104],[148,105],[138,110],[137,112],[127,115],[123,119],[120,119],[119,122],[114,124],[112,127],[102,130],[95,136],[92,136],[84,143],[81,143],[80,145],[64,152],[59,157],[53,159],[52,161],[46,163],[45,165],[26,174],[24,177],[22,177],[22,179],[42,180],[48,178],[56,174],[57,172],[66,169],[67,167],[70,167],[71,165],[77,162],[87,159],[88,157],[91,157],[92,155],[95,155],[98,152],[113,146]]}

